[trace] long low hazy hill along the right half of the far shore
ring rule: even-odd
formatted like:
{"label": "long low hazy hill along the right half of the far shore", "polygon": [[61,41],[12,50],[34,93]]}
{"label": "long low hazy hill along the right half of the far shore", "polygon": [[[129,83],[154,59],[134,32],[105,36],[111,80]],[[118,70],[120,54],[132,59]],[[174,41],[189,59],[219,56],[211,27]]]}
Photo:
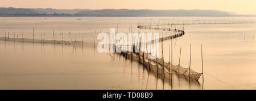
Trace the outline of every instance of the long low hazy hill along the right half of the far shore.
{"label": "long low hazy hill along the right half of the far shore", "polygon": [[217,10],[87,10],[77,14],[101,16],[233,16],[235,14]]}

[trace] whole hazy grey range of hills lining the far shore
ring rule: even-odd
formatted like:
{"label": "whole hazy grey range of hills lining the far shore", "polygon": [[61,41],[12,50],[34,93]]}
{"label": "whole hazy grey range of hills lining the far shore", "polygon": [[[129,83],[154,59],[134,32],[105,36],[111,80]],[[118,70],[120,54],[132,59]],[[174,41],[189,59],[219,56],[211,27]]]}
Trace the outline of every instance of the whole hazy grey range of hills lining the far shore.
{"label": "whole hazy grey range of hills lining the far shore", "polygon": [[0,8],[0,16],[246,16],[218,10]]}

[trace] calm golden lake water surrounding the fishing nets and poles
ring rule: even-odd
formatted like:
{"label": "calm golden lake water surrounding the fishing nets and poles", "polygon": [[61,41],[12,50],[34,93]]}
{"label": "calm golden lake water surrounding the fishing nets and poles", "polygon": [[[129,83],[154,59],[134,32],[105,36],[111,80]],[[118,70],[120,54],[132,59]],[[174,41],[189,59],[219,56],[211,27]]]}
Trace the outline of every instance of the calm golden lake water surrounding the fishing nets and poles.
{"label": "calm golden lake water surrounding the fishing nets and poles", "polygon": [[[81,19],[81,20],[77,20]],[[35,38],[92,43],[84,47],[0,41],[0,89],[256,89],[256,24],[185,25],[185,34],[173,39],[173,64],[202,72],[201,44],[204,55],[204,85],[174,76],[162,80],[143,65],[111,53],[98,53],[94,38],[100,32],[159,32],[160,37],[173,34],[159,30],[138,30],[138,23],[226,23],[250,22],[256,17],[0,17],[0,37]],[[132,27],[132,28],[131,28]],[[172,25],[172,28],[181,26]],[[166,26],[166,28],[168,28]],[[96,39],[96,42],[100,40]],[[163,42],[164,60],[169,61],[168,47]]]}

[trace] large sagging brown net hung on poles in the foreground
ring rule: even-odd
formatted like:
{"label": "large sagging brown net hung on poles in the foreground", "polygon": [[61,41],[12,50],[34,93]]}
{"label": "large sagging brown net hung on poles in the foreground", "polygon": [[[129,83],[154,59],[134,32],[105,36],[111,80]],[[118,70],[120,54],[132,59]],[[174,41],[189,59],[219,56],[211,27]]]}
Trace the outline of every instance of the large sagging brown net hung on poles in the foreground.
{"label": "large sagging brown net hung on poles in the foreground", "polygon": [[[117,48],[121,50],[120,48]],[[181,65],[172,65],[171,62],[164,62],[162,58],[149,59],[150,53],[139,51],[137,52],[121,52],[127,59],[138,61],[146,66],[150,71],[158,72],[165,77],[170,77],[170,74],[181,74],[189,78],[199,80],[202,73],[198,73],[189,68],[184,68]],[[189,73],[190,70],[190,73]]]}

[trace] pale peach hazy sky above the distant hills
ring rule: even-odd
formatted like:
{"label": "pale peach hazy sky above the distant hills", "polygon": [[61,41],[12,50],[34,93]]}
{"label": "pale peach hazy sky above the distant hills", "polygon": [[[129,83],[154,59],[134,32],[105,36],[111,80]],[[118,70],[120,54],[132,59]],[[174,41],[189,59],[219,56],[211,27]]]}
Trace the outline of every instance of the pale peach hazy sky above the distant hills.
{"label": "pale peach hazy sky above the distant hills", "polygon": [[222,10],[256,15],[256,0],[1,0],[0,7]]}

